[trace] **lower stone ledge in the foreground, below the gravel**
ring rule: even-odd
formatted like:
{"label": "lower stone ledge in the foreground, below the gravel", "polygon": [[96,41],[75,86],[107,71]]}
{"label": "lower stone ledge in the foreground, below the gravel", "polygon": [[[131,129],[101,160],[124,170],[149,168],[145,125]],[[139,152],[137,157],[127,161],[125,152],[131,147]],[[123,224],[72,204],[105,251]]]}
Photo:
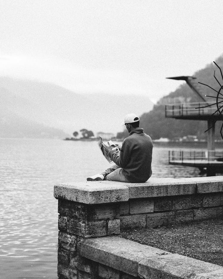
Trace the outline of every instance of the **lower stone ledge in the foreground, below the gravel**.
{"label": "lower stone ledge in the foreground, below the gravel", "polygon": [[81,256],[145,279],[223,278],[223,267],[116,236],[85,239]]}

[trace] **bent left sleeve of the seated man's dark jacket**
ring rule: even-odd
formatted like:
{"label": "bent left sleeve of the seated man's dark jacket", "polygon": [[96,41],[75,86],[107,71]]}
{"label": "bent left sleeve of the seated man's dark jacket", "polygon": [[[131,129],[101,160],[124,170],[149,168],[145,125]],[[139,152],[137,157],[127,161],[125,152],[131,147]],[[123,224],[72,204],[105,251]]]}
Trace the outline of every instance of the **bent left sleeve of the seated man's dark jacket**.
{"label": "bent left sleeve of the seated man's dark jacket", "polygon": [[123,142],[120,154],[118,155],[114,153],[113,150],[111,150],[109,151],[109,156],[113,160],[113,162],[117,164],[117,166],[124,168],[127,166],[130,159],[130,149],[128,145],[125,142]]}

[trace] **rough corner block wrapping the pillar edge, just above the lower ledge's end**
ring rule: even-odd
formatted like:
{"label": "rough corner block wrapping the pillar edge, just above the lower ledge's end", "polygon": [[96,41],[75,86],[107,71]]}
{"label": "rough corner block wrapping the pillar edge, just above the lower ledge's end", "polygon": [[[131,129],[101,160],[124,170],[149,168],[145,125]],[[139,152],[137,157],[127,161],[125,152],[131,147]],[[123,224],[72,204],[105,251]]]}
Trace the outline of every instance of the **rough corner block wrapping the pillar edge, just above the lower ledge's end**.
{"label": "rough corner block wrapping the pillar edge, just above the lower ledge's end", "polygon": [[106,220],[84,221],[70,218],[67,231],[70,234],[85,238],[106,236],[107,223]]}

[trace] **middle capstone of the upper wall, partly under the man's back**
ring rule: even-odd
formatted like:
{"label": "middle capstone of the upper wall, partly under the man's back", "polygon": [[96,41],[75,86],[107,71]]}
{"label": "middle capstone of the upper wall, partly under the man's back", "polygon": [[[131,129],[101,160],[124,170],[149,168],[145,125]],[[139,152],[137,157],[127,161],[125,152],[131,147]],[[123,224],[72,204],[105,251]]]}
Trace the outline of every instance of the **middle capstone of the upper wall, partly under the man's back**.
{"label": "middle capstone of the upper wall, partly under the man's back", "polygon": [[129,188],[129,199],[191,195],[196,191],[196,183],[180,178],[150,178],[145,183],[125,184]]}

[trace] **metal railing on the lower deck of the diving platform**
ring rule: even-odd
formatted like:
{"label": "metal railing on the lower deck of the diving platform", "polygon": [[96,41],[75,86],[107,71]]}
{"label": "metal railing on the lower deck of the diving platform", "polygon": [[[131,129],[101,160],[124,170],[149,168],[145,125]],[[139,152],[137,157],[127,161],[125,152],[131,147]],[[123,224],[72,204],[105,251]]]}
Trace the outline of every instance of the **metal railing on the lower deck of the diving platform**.
{"label": "metal railing on the lower deck of the diving platform", "polygon": [[223,164],[223,150],[169,150],[169,163],[172,162],[219,162]]}

